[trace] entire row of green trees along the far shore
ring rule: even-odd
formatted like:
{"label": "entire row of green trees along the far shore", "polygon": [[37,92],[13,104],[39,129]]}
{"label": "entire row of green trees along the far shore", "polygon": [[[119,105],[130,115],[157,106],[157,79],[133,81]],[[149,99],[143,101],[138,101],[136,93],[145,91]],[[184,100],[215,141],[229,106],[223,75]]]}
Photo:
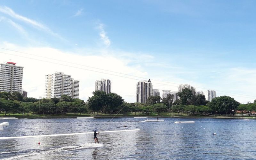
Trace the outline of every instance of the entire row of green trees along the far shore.
{"label": "entire row of green trees along the far shore", "polygon": [[44,115],[68,114],[68,113],[92,113],[97,114],[126,114],[128,112],[139,112],[139,114],[150,114],[161,112],[189,113],[189,114],[212,114],[231,115],[236,111],[249,112],[256,110],[256,100],[253,103],[240,104],[229,96],[213,98],[211,102],[205,100],[202,94],[196,95],[195,91],[188,88],[178,92],[179,100],[173,102],[173,95],[161,99],[160,96],[149,96],[146,103],[127,103],[116,93],[106,94],[103,91],[93,92],[88,100],[72,99],[70,96],[62,95],[60,99],[36,99],[23,98],[19,92],[0,92],[0,111],[7,113],[33,112]]}

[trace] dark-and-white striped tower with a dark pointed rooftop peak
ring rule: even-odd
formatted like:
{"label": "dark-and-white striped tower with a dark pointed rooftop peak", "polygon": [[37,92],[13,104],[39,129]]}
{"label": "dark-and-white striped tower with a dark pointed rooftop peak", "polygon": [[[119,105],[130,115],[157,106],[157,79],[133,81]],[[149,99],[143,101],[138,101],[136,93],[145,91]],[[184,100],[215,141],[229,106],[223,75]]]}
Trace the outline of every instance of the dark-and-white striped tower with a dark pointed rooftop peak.
{"label": "dark-and-white striped tower with a dark pointed rooftop peak", "polygon": [[146,103],[149,96],[153,96],[153,85],[150,81],[140,81],[136,84],[136,102]]}

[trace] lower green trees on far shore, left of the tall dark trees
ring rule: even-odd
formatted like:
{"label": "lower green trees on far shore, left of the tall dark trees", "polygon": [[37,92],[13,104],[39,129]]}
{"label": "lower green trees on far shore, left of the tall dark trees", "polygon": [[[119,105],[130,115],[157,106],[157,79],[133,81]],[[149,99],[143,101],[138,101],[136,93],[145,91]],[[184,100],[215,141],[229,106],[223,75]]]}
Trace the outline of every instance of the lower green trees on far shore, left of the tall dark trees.
{"label": "lower green trees on far shore, left of the tall dark trees", "polygon": [[60,99],[23,98],[19,92],[0,92],[0,111],[7,113],[28,113],[43,115],[87,113],[84,100],[62,95]]}

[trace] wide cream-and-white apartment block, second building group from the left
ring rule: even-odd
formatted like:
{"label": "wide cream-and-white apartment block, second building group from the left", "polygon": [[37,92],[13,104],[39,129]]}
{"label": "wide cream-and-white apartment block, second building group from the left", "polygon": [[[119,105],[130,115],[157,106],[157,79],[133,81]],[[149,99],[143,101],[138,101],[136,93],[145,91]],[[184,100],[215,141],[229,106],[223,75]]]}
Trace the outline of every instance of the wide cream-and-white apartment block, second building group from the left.
{"label": "wide cream-and-white apartment block, second building group from the left", "polygon": [[60,98],[61,95],[68,95],[72,98],[79,98],[79,81],[64,75],[63,72],[55,72],[45,76],[45,98]]}

